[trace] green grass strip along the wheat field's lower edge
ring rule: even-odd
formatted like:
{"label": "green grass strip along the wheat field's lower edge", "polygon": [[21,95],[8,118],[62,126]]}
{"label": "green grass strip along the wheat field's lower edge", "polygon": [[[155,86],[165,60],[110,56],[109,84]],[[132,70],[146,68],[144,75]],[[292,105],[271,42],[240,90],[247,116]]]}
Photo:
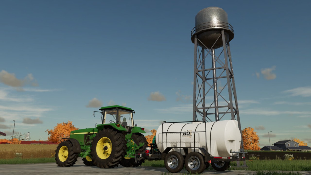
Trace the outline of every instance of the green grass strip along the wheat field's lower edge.
{"label": "green grass strip along the wheat field's lower edge", "polygon": [[21,163],[50,163],[55,162],[55,158],[12,158],[0,159],[0,164],[21,164]]}

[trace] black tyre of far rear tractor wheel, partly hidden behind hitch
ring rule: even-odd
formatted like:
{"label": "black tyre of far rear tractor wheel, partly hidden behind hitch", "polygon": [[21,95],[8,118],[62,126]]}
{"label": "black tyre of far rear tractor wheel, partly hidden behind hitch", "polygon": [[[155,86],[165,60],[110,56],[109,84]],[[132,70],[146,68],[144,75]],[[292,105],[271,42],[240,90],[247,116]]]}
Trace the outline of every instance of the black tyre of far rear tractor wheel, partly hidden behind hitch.
{"label": "black tyre of far rear tractor wheel, partly hidden behind hitch", "polygon": [[[136,150],[136,154],[142,154],[145,153],[148,142],[147,139],[144,135],[142,135],[141,133],[133,133],[132,134],[132,140],[134,141],[135,144],[139,145],[141,143],[143,143],[144,145],[142,145],[142,147],[140,147],[138,150]],[[120,165],[122,165],[123,167],[138,167],[140,165],[142,165],[142,163],[145,162],[144,158],[138,158],[137,162],[135,161],[135,158],[123,158],[120,162]]]}

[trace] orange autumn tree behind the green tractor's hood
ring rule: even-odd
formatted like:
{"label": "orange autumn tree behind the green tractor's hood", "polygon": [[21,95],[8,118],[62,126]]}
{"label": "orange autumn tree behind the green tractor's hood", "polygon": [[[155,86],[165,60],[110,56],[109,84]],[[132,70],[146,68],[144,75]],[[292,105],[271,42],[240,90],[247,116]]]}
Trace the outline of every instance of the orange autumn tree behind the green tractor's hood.
{"label": "orange autumn tree behind the green tractor's hood", "polygon": [[48,133],[49,137],[48,140],[55,143],[61,143],[63,140],[62,138],[69,138],[70,132],[73,130],[78,130],[72,125],[72,121],[58,123],[54,126],[53,130],[46,130],[45,132]]}

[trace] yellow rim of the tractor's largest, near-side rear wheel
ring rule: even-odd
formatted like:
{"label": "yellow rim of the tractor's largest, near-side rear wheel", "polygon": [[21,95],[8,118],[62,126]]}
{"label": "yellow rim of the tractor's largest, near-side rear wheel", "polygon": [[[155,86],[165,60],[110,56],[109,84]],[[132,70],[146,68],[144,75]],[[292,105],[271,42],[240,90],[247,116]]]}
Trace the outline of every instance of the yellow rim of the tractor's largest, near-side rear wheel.
{"label": "yellow rim of the tractor's largest, near-side rear wheel", "polygon": [[111,152],[112,144],[110,139],[107,137],[102,137],[100,140],[98,140],[96,145],[96,153],[99,158],[106,159],[110,156]]}

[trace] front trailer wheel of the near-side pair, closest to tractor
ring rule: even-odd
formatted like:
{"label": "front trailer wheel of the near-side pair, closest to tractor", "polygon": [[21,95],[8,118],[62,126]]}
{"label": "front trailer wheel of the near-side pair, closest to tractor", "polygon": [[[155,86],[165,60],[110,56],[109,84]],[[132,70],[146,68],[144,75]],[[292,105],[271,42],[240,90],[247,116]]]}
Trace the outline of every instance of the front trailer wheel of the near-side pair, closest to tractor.
{"label": "front trailer wheel of the near-side pair, closest to tractor", "polygon": [[164,165],[167,171],[171,173],[178,173],[183,169],[183,155],[179,152],[169,152],[164,159]]}

